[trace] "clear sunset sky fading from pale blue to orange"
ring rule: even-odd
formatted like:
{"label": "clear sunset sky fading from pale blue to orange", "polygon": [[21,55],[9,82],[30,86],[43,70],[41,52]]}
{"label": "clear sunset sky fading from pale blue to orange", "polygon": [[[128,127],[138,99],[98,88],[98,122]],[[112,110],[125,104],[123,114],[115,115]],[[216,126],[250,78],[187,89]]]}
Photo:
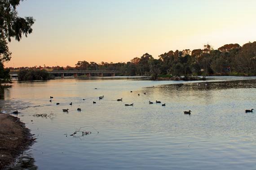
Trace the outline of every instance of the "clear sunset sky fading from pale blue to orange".
{"label": "clear sunset sky fading from pale blue to orange", "polygon": [[[225,2],[224,2],[225,1]],[[6,67],[127,62],[144,53],[256,41],[255,0],[25,0],[33,33],[12,40]]]}

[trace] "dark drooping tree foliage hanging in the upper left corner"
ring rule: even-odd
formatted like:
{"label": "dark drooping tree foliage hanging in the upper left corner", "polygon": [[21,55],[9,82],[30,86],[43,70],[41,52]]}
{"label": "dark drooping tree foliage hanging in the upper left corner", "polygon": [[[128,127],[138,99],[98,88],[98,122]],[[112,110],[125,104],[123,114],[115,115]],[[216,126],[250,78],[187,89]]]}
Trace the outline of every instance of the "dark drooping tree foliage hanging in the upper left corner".
{"label": "dark drooping tree foliage hanging in the upper left corner", "polygon": [[32,33],[33,17],[18,17],[16,7],[21,0],[0,0],[0,62],[11,59],[11,52],[7,46],[8,41],[14,37],[20,41],[22,34],[27,37]]}

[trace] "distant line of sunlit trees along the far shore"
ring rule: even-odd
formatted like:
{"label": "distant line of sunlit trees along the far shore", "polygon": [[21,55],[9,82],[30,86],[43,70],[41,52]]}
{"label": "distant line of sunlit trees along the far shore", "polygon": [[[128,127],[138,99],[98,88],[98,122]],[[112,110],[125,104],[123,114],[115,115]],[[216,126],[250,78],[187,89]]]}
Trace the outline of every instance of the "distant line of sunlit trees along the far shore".
{"label": "distant line of sunlit trees along the far shore", "polygon": [[[14,69],[14,68],[10,68]],[[21,69],[21,68],[18,68]],[[52,70],[119,70],[121,76],[208,76],[208,75],[256,75],[256,42],[226,44],[214,50],[209,44],[203,49],[169,51],[154,59],[146,53],[127,63],[78,61],[75,67],[33,67]]]}

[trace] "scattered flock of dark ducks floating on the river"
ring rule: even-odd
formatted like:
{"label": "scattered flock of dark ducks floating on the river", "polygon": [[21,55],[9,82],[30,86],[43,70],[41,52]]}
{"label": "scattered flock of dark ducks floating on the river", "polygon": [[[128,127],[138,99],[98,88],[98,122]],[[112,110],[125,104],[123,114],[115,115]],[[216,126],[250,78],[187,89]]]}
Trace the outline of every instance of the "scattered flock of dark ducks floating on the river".
{"label": "scattered flock of dark ducks floating on the river", "polygon": [[[95,89],[97,89],[97,88],[95,88]],[[130,92],[132,93],[132,91],[130,91]],[[146,92],[143,93],[143,94],[146,95]],[[140,96],[140,93],[138,93],[138,96]],[[100,97],[99,97],[99,100],[102,100],[103,98],[104,98],[104,95],[100,96]],[[53,96],[50,96],[49,102],[52,102],[52,99],[53,99]],[[83,98],[83,100],[85,100],[85,99]],[[117,101],[123,101],[123,98],[119,98],[119,99],[117,99]],[[93,104],[95,104],[95,103],[96,103],[96,102],[93,101]],[[157,100],[156,100],[155,103],[161,103],[161,101],[157,101]],[[56,105],[59,105],[59,104],[60,104],[59,102],[56,103]],[[149,101],[149,104],[153,104],[153,102]],[[72,106],[72,102],[71,102],[69,105]],[[132,104],[125,104],[124,106],[133,106],[133,103],[132,103]],[[162,104],[162,106],[165,106],[165,103]],[[68,110],[69,110],[69,109],[62,109],[63,112],[68,112]],[[81,110],[82,110],[81,108],[77,108],[77,111],[81,111]],[[245,110],[245,112],[246,112],[246,113],[253,112],[252,110],[254,110],[254,109]],[[192,112],[191,110],[189,110],[189,111],[184,111],[184,114],[185,114],[185,115],[190,115],[191,112]],[[18,114],[18,110],[13,111],[13,114],[16,114],[16,115],[17,115],[17,114]]]}

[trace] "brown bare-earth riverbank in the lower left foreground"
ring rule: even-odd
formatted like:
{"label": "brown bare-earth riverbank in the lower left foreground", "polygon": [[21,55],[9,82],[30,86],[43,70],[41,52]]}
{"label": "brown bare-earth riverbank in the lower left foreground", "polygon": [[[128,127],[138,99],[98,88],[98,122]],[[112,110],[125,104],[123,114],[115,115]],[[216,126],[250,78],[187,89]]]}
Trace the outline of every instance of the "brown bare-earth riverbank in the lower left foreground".
{"label": "brown bare-earth riverbank in the lower left foreground", "polygon": [[10,166],[33,142],[25,123],[17,117],[0,113],[0,170]]}

